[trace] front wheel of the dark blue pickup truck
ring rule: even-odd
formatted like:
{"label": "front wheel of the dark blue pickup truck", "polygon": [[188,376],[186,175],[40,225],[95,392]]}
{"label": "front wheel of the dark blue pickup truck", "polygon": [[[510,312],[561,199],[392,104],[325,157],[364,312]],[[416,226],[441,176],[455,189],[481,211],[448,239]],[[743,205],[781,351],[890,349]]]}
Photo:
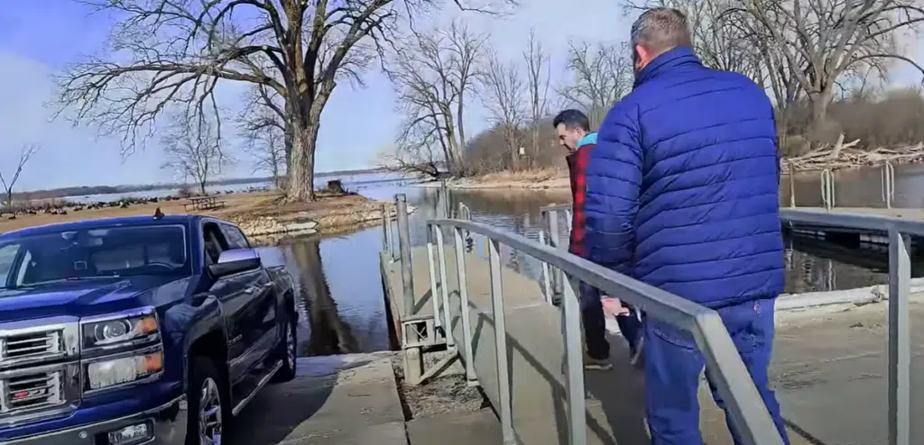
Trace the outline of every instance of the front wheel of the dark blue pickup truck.
{"label": "front wheel of the dark blue pickup truck", "polygon": [[231,420],[231,406],[225,397],[225,379],[212,359],[192,357],[187,391],[186,445],[220,444],[222,433]]}

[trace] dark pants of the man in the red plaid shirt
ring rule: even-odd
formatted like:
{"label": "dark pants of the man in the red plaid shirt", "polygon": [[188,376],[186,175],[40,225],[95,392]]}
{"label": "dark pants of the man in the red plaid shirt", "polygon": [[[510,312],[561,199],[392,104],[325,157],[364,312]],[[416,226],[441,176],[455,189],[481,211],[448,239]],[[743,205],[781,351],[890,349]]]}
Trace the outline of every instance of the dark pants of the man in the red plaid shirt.
{"label": "dark pants of the man in the red plaid shirt", "polygon": [[[584,321],[584,342],[587,343],[587,354],[592,358],[606,359],[610,356],[610,343],[606,341],[606,315],[603,313],[603,303],[600,293],[596,289],[581,284],[580,307]],[[638,335],[641,331],[641,322],[635,314],[626,317],[616,317],[619,331],[622,332],[629,349],[635,351]]]}

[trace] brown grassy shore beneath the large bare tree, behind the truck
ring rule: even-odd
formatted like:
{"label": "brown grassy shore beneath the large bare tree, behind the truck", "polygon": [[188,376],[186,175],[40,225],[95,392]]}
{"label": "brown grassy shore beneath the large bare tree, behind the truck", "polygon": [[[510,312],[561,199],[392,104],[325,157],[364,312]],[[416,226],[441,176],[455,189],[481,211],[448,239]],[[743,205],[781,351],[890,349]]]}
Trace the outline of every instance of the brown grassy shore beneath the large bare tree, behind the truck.
{"label": "brown grassy shore beneath the large bare tree, behind the truck", "polygon": [[[277,192],[234,193],[216,197],[225,207],[215,210],[186,210],[187,199],[160,200],[128,207],[88,209],[80,205],[67,206],[56,214],[39,211],[36,214],[6,216],[0,221],[0,232],[43,225],[98,218],[153,215],[158,208],[170,214],[196,213],[222,218],[240,225],[249,236],[292,234],[338,234],[382,221],[382,201],[359,195],[319,193],[314,202],[286,203]],[[385,203],[389,210],[394,204]],[[12,219],[11,219],[12,218]]]}

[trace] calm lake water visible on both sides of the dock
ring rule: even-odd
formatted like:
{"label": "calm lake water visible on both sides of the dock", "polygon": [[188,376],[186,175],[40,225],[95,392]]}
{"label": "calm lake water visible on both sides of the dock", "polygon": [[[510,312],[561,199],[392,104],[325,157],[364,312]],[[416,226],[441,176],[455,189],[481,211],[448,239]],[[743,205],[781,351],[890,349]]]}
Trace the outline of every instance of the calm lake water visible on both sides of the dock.
{"label": "calm lake water visible on both sides of the dock", "polygon": [[[896,207],[919,207],[924,204],[924,168],[895,168]],[[884,206],[881,199],[881,174],[866,170],[835,174],[837,204],[840,206]],[[407,202],[417,210],[410,217],[411,243],[426,243],[427,219],[442,216],[446,198],[439,189],[411,186],[409,181],[379,175],[353,178],[353,188],[364,196],[393,199],[407,195]],[[346,181],[347,187],[350,182]],[[781,197],[788,204],[788,185],[784,181]],[[800,206],[820,206],[821,185],[816,175],[801,175],[796,183]],[[538,238],[541,229],[540,208],[570,200],[566,190],[479,190],[450,191],[449,207],[464,203],[471,217],[503,230]],[[452,215],[455,216],[455,215]],[[564,225],[564,224],[563,224]],[[297,276],[302,292],[301,355],[329,355],[388,349],[378,255],[382,248],[379,226],[350,235],[319,239],[287,240],[281,246],[263,247],[263,254],[285,261]],[[477,252],[483,243],[476,237]],[[482,254],[483,255],[483,254]],[[884,250],[849,249],[806,239],[787,239],[785,250],[786,292],[804,293],[835,289],[852,289],[886,283],[887,252]],[[508,266],[538,279],[538,261],[502,249],[502,261]],[[924,265],[916,263],[915,276],[924,275]]]}

